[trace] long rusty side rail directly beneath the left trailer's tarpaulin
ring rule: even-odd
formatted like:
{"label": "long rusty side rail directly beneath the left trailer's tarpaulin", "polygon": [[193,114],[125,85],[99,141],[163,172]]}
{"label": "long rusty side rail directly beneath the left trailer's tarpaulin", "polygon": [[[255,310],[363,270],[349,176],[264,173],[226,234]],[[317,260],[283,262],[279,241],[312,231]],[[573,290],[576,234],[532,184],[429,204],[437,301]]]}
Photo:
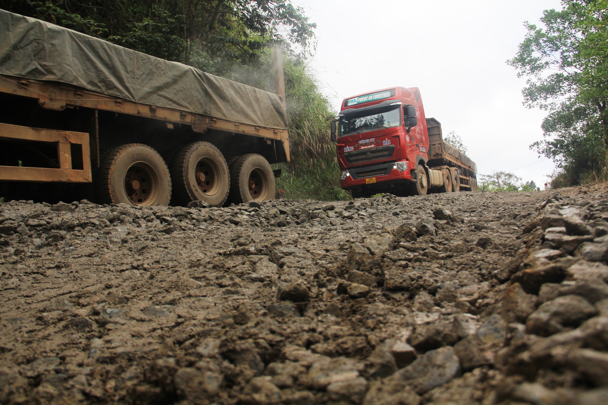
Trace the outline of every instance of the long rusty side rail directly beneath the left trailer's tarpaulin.
{"label": "long rusty side rail directly beneath the left trailer's tarpaulin", "polygon": [[289,139],[287,130],[265,128],[240,122],[203,116],[194,112],[140,104],[128,100],[114,99],[101,94],[66,84],[51,84],[46,81],[22,79],[0,75],[0,92],[22,95],[38,99],[41,107],[63,111],[66,105],[121,112],[132,116],[164,120],[171,123],[182,123],[192,126],[192,130],[205,133],[209,128],[236,134],[246,134],[282,142],[286,159],[289,162]]}

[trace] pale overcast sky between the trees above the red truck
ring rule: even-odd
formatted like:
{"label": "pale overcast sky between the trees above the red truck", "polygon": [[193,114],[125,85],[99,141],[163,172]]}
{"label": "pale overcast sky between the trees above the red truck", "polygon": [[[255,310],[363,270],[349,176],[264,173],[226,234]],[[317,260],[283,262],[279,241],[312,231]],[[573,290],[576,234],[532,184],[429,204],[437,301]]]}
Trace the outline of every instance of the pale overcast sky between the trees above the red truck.
{"label": "pale overcast sky between the trees above the red truck", "polygon": [[[292,0],[317,23],[311,66],[334,105],[390,86],[418,87],[427,117],[456,131],[480,174],[512,171],[541,187],[553,162],[529,145],[544,111],[522,105],[525,80],[505,61],[559,0]],[[525,167],[527,166],[527,167]]]}

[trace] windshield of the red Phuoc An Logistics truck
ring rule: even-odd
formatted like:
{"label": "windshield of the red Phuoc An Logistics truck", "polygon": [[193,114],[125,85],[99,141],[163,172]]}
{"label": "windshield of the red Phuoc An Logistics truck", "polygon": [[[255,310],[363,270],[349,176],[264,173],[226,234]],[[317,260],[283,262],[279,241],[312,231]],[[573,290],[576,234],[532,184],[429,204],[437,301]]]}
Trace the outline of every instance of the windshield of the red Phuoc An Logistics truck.
{"label": "windshield of the red Phuoc An Logistics truck", "polygon": [[359,134],[378,128],[401,125],[401,106],[390,105],[378,109],[353,112],[340,117],[340,136]]}

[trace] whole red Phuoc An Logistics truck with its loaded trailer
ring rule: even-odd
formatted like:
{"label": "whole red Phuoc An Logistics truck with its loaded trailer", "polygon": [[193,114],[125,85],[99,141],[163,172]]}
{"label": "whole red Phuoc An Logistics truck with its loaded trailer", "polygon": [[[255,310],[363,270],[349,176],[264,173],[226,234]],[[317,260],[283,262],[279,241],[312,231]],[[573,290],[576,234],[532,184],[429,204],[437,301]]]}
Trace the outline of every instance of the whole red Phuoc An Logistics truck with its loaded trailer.
{"label": "whole red Phuoc An Logistics truck with its loaded trailer", "polygon": [[426,118],[418,88],[392,87],[344,99],[331,119],[342,189],[353,198],[390,192],[477,191],[477,167]]}

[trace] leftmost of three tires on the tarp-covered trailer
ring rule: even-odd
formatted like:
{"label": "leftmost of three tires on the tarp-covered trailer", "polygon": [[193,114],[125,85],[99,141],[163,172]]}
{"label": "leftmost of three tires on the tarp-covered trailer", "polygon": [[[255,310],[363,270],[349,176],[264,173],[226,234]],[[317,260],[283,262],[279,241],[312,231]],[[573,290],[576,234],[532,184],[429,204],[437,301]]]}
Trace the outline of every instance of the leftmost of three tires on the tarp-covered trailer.
{"label": "leftmost of three tires on the tarp-covered trailer", "polygon": [[126,144],[103,154],[96,170],[97,197],[105,204],[168,206],[171,176],[156,150]]}

